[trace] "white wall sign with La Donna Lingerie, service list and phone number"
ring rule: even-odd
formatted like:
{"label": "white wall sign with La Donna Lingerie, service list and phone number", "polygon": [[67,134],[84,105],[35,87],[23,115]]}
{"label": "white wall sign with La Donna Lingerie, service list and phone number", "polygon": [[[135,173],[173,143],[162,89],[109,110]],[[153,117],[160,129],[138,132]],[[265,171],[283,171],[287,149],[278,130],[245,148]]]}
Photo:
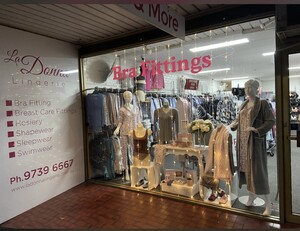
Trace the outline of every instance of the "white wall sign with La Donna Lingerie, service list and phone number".
{"label": "white wall sign with La Donna Lingerie, service list and phone number", "polygon": [[0,223],[84,181],[77,47],[0,26]]}

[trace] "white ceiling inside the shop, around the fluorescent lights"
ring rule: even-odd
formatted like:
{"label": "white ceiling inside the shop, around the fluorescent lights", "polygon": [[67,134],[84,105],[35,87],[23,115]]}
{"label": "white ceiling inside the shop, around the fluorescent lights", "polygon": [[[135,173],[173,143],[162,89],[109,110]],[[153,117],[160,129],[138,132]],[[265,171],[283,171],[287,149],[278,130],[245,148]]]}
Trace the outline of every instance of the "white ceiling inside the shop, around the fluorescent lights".
{"label": "white ceiling inside the shop, around the fluorescent lights", "polygon": [[[248,38],[249,43],[198,53],[189,51],[190,48],[196,46],[210,45],[241,38]],[[190,71],[185,71],[174,74],[201,80],[223,80],[228,78],[249,77],[266,81],[274,80],[274,56],[264,57],[262,56],[262,53],[274,51],[274,18],[266,18],[186,36],[184,41],[172,39],[133,49],[121,50],[115,52],[112,56],[118,55],[121,58],[121,65],[123,64],[125,56],[125,59],[127,60],[126,65],[129,68],[130,60],[135,60],[136,58],[137,63],[139,64],[141,57],[146,60],[164,61],[168,60],[169,57],[174,56],[176,57],[175,61],[177,61],[179,59],[191,60],[196,56],[210,55],[212,57],[212,66],[206,70],[229,67],[231,68],[230,71],[195,75],[191,74]],[[105,57],[104,59],[109,60],[108,57]],[[110,60],[112,60],[112,58],[110,58]],[[133,67],[134,65],[135,64],[131,64]]]}

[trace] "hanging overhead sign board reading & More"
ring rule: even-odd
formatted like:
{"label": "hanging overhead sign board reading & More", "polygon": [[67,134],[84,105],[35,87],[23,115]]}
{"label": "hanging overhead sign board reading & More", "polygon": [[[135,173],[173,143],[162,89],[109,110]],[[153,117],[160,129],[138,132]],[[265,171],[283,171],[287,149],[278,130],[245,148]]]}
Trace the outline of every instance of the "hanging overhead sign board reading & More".
{"label": "hanging overhead sign board reading & More", "polygon": [[166,4],[120,4],[153,26],[177,37],[185,37],[185,19]]}

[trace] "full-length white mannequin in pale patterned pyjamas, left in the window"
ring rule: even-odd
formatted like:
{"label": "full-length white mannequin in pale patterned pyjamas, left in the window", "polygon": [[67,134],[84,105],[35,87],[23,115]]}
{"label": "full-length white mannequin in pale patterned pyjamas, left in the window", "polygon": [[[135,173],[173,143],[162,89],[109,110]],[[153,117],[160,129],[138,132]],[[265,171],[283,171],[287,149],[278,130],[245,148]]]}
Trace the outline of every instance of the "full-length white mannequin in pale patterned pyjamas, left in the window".
{"label": "full-length white mannequin in pale patterned pyjamas, left in the window", "polygon": [[130,91],[125,91],[123,93],[123,97],[125,104],[119,110],[118,126],[114,131],[114,135],[117,136],[120,133],[122,159],[123,166],[125,168],[125,180],[129,180],[128,158],[129,162],[132,162],[132,153],[128,152],[128,150],[133,147],[133,140],[128,136],[128,134],[129,131],[134,129],[140,122],[140,112],[138,107],[135,107],[131,103],[132,93]]}

